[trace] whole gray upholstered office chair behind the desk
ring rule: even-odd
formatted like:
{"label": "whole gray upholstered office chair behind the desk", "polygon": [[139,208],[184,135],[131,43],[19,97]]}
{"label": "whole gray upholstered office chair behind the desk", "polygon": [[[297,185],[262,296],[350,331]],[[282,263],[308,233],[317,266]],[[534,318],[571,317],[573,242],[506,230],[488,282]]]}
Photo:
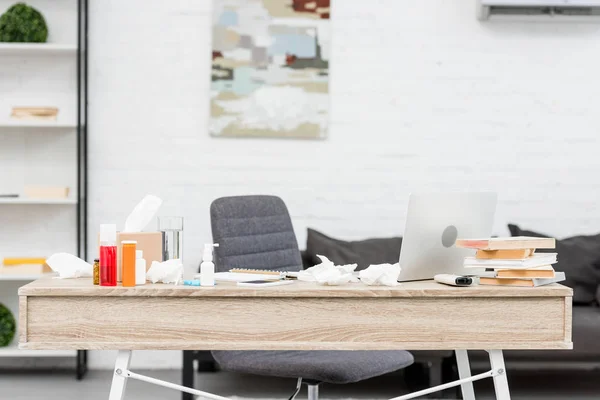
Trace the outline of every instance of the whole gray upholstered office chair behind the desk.
{"label": "whole gray upholstered office chair behind the desk", "polygon": [[[285,203],[275,196],[238,196],[215,200],[210,207],[218,271],[231,268],[297,271],[302,268],[298,242]],[[212,351],[227,371],[297,378],[296,391],[308,386],[317,400],[319,384],[352,383],[407,367],[407,351]]]}

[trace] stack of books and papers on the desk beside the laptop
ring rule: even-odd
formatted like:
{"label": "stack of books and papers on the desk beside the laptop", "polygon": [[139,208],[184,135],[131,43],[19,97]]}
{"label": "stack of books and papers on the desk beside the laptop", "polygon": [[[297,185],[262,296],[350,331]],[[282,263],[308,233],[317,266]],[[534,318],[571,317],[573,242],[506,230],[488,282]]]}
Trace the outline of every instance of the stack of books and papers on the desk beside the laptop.
{"label": "stack of books and papers on the desk beside the laptop", "polygon": [[564,272],[552,267],[556,253],[536,253],[554,249],[553,238],[517,236],[511,238],[459,239],[457,247],[476,249],[464,266],[479,276],[480,285],[543,286],[565,280]]}

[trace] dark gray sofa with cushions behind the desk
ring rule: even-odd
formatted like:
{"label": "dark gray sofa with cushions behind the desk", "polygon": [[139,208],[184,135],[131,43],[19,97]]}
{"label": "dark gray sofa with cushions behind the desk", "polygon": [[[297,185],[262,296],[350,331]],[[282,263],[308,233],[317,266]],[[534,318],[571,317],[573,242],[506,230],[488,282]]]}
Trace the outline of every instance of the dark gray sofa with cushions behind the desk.
{"label": "dark gray sofa with cushions behind the desk", "polygon": [[[512,236],[549,237],[510,224]],[[304,266],[318,263],[315,254],[322,254],[336,263],[358,263],[359,268],[370,263],[394,263],[399,259],[402,238],[376,238],[361,241],[343,241],[308,229],[307,248],[303,252]],[[600,235],[574,236],[557,241],[555,251],[559,263],[554,267],[564,271],[573,288],[573,350],[505,351],[507,364],[518,366],[521,362],[536,361],[560,368],[581,367],[585,363],[600,365]],[[407,349],[410,350],[410,349]],[[411,351],[415,365],[407,382],[431,386],[456,378],[457,371],[452,351]],[[471,354],[472,353],[472,354]],[[485,364],[487,353],[470,352],[474,364]],[[489,365],[489,364],[487,364]]]}

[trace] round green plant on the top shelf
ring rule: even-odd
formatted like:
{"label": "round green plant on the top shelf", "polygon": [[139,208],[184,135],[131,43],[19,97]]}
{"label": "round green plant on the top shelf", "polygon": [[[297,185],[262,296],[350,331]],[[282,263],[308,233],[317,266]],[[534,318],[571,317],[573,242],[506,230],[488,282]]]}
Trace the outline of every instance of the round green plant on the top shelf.
{"label": "round green plant on the top shelf", "polygon": [[47,39],[44,16],[25,3],[11,6],[0,16],[0,42],[44,43]]}

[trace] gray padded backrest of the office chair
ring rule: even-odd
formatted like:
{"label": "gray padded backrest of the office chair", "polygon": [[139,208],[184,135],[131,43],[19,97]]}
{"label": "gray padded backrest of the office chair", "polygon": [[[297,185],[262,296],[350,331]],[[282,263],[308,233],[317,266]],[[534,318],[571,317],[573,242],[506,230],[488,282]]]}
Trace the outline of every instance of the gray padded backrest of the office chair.
{"label": "gray padded backrest of the office chair", "polygon": [[302,257],[283,200],[276,196],[221,197],[210,206],[215,269],[302,269]]}

